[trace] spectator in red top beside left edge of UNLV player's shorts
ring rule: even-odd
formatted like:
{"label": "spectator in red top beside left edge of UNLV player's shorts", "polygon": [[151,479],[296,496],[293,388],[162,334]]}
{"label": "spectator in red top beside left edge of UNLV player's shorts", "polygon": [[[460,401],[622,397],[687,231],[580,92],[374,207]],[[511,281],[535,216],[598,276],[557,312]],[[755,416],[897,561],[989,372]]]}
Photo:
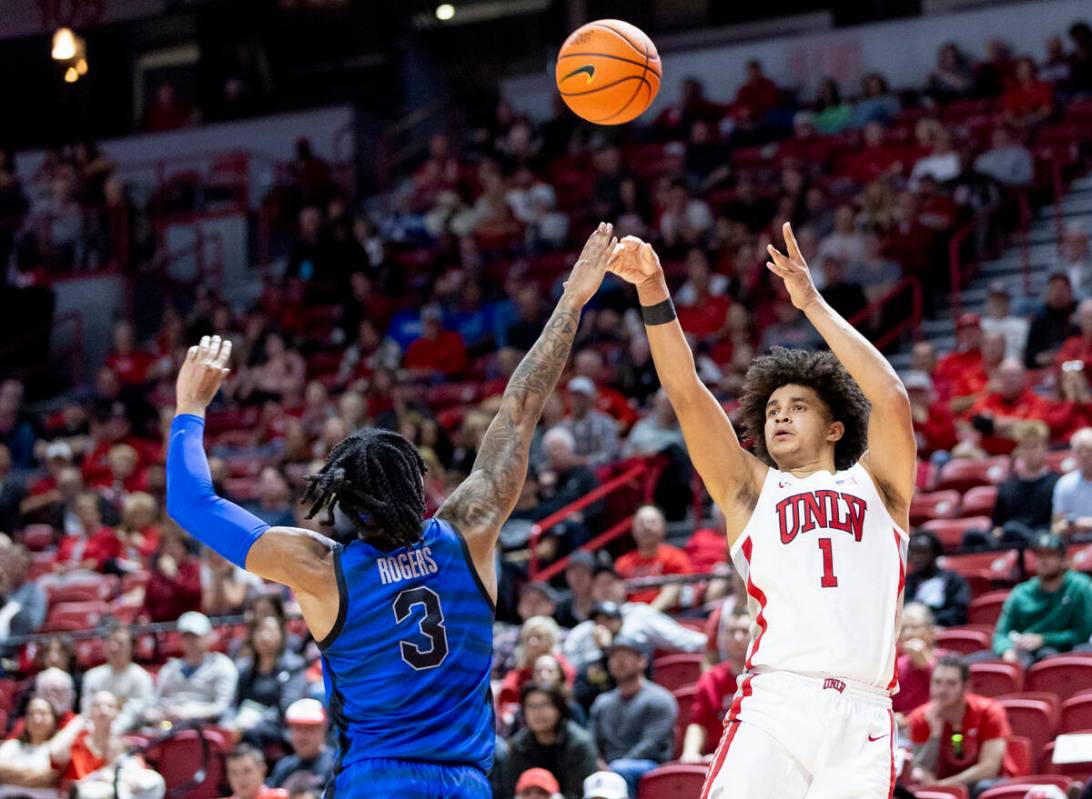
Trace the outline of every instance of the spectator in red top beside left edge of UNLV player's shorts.
{"label": "spectator in red top beside left edge of UNLV player's shorts", "polygon": [[684,763],[705,762],[724,729],[724,718],[736,693],[736,679],[743,673],[747,645],[750,643],[751,617],[746,608],[725,616],[731,655],[707,669],[698,680],[690,709],[690,723],[682,737]]}

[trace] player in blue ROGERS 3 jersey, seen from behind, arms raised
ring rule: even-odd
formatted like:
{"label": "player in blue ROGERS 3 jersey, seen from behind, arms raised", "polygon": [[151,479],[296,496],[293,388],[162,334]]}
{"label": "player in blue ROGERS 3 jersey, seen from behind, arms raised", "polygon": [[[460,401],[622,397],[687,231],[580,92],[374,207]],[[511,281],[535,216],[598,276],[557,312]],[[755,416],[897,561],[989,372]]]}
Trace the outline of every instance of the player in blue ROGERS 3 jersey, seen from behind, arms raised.
{"label": "player in blue ROGERS 3 jersey, seen from behind, arms raised", "polygon": [[227,374],[232,344],[205,337],[177,384],[167,453],[167,512],[254,574],[290,587],[322,651],[339,737],[327,799],[485,799],[492,762],[489,690],[497,595],[495,547],[527,470],[546,398],[565,369],[584,305],[616,243],[600,225],[538,341],[512,373],[471,475],[425,518],[425,464],[395,432],[365,428],[309,479],[311,517],[353,535],[334,540],[270,527],[216,496],[204,410]]}

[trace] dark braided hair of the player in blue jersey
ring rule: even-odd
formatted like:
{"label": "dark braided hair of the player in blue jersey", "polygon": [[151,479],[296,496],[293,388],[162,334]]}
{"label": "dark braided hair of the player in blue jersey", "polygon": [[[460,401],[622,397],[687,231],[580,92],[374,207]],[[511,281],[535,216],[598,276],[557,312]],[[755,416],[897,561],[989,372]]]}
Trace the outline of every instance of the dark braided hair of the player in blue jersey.
{"label": "dark braided hair of the player in blue jersey", "polygon": [[383,551],[420,540],[425,518],[422,477],[425,462],[417,448],[391,430],[364,428],[330,451],[318,474],[307,477],[304,502],[312,518],[333,525],[334,506],[348,516],[357,535]]}

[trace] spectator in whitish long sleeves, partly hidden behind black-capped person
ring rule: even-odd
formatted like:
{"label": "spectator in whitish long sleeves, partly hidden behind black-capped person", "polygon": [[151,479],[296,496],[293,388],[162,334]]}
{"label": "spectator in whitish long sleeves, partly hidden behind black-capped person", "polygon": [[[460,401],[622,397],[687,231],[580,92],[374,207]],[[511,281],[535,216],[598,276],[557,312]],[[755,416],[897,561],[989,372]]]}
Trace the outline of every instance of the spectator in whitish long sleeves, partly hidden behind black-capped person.
{"label": "spectator in whitish long sleeves, partly hidden behind black-capped person", "polygon": [[[705,635],[697,630],[682,627],[672,617],[643,603],[626,601],[626,583],[612,567],[598,567],[592,579],[592,597],[596,603],[613,603],[621,617],[620,632],[627,639],[636,640],[654,649],[667,652],[701,652],[705,648]],[[573,668],[598,660],[606,646],[602,624],[595,621],[595,613],[574,627],[565,639],[561,651]]]}

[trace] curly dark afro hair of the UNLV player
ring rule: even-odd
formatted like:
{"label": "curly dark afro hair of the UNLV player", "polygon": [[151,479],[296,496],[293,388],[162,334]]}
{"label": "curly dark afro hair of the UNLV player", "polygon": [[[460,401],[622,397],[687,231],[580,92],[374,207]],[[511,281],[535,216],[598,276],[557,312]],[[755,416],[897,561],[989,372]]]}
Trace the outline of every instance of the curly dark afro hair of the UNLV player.
{"label": "curly dark afro hair of the UNLV player", "polygon": [[827,403],[832,419],[845,426],[845,433],[834,444],[834,468],[853,466],[867,445],[871,404],[832,353],[804,349],[773,347],[747,370],[739,413],[744,436],[755,444],[755,455],[776,467],[765,449],[765,404],[773,392],[790,383],[812,389]]}

